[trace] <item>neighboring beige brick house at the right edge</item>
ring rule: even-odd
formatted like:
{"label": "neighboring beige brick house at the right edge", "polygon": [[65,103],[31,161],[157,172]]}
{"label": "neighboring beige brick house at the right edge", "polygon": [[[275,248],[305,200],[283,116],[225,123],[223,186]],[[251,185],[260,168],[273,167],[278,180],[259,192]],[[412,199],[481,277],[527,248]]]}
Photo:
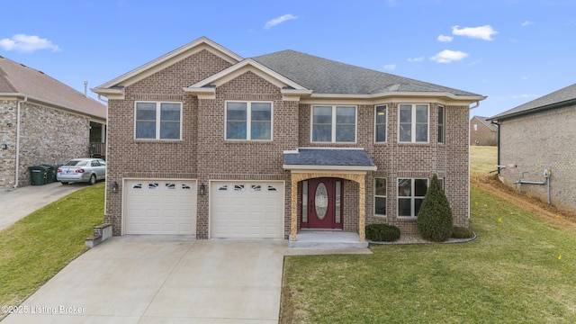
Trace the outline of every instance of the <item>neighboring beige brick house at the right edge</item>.
{"label": "neighboring beige brick house at the right edge", "polygon": [[503,182],[544,202],[576,210],[576,84],[491,120],[500,125]]}

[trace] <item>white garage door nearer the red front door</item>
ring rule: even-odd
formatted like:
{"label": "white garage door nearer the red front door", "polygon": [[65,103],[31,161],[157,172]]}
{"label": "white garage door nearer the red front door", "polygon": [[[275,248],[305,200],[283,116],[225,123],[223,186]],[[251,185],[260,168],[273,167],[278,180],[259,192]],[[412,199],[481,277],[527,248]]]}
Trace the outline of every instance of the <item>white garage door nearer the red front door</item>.
{"label": "white garage door nearer the red front door", "polygon": [[283,182],[212,182],[211,238],[284,238]]}

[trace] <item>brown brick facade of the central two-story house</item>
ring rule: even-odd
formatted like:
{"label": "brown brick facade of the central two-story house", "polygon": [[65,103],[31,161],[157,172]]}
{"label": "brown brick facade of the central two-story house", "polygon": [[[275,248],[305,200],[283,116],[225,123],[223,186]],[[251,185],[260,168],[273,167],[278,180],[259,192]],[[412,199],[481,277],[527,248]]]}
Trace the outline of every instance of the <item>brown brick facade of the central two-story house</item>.
{"label": "brown brick facade of the central two-story house", "polygon": [[[171,67],[128,85],[124,99],[109,100],[108,112],[108,183],[122,184],[124,178],[188,178],[198,184],[213,180],[284,181],[284,238],[291,233],[291,172],[283,168],[283,152],[302,147],[365,148],[378,167],[365,175],[365,201],[358,201],[359,183],[343,181],[344,230],[360,229],[360,207],[365,207],[366,224],[385,222],[397,225],[404,233],[415,232],[415,218],[402,219],[397,212],[397,183],[402,177],[445,179],[455,225],[468,226],[468,115],[467,105],[443,105],[446,114],[446,140],[437,143],[436,100],[415,103],[429,105],[429,142],[398,143],[398,100],[365,100],[357,107],[357,135],[353,144],[318,144],[311,142],[311,103],[287,100],[282,88],[247,70],[218,85],[213,98],[186,94],[183,86],[193,85],[229,67],[229,62],[202,50]],[[273,103],[273,140],[234,141],[225,139],[225,103],[227,100],[266,101]],[[405,99],[403,99],[405,100]],[[134,139],[134,110],[137,101],[174,101],[183,103],[182,140]],[[327,103],[327,99],[322,103]],[[405,101],[403,101],[405,102]],[[374,143],[375,104],[388,105],[386,143]],[[336,104],[336,103],[335,103]],[[374,176],[387,179],[387,216],[374,216]],[[302,184],[297,185],[300,194]],[[122,188],[111,193],[107,188],[105,221],[113,225],[113,234],[121,235]],[[297,208],[300,212],[301,202]],[[209,237],[209,194],[197,201],[196,238]]]}

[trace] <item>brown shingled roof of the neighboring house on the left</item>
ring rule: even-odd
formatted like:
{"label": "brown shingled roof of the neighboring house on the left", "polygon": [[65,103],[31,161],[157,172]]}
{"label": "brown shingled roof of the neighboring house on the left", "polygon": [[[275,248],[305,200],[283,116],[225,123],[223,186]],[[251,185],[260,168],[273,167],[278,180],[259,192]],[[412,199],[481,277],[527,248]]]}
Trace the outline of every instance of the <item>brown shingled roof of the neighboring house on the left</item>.
{"label": "brown shingled roof of the neighboring house on the left", "polygon": [[44,103],[106,119],[106,106],[57,79],[0,56],[0,95],[28,96]]}

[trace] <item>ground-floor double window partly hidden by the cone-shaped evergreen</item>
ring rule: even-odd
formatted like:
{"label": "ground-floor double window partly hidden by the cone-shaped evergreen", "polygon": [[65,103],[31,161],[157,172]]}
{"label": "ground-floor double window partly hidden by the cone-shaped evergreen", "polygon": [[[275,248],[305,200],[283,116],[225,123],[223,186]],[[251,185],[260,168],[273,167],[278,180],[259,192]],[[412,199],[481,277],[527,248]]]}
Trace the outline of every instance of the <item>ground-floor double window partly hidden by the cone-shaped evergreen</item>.
{"label": "ground-floor double window partly hidden by the cone-shaped evergreen", "polygon": [[398,216],[417,217],[427,191],[427,178],[398,179]]}

